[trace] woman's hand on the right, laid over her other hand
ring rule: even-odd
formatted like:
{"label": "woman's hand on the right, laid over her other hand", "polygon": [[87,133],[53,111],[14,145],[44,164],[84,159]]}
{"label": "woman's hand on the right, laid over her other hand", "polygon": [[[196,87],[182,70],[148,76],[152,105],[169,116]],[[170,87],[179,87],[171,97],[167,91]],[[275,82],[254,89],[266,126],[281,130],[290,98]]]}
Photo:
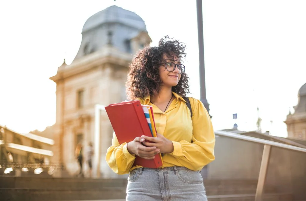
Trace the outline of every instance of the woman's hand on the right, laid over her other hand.
{"label": "woman's hand on the right, laid over her other hand", "polygon": [[157,137],[148,137],[145,135],[141,136],[142,138],[144,138],[145,140],[151,141],[153,143],[150,142],[143,142],[144,145],[148,146],[148,147],[156,147],[157,149],[160,150],[160,153],[172,153],[173,152],[173,143],[171,140],[168,140],[167,138],[165,138],[163,135],[161,134],[157,134]]}

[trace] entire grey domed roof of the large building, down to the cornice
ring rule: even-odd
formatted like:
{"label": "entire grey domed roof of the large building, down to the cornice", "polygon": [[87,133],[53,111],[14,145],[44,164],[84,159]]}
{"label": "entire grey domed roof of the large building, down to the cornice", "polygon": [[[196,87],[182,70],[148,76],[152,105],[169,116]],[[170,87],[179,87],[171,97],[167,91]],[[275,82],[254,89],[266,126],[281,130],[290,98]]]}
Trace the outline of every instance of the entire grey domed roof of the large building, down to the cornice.
{"label": "entire grey domed roof of the large building, down to the cornice", "polygon": [[150,43],[146,24],[140,16],[116,5],[110,6],[95,13],[84,23],[82,41],[73,62],[101,50],[105,45],[130,54],[135,49],[132,40],[141,33],[146,36],[139,39],[142,40],[140,43]]}

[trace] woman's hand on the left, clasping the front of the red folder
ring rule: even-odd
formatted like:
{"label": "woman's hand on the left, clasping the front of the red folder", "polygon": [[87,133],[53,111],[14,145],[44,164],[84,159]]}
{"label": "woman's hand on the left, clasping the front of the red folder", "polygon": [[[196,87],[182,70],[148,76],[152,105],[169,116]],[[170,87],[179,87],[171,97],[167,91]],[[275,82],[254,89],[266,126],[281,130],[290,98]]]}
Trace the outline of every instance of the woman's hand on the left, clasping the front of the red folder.
{"label": "woman's hand on the left, clasping the front of the red folder", "polygon": [[144,138],[136,137],[133,141],[129,142],[127,149],[130,154],[136,154],[144,159],[154,159],[155,155],[160,152],[156,146],[146,147],[142,145]]}

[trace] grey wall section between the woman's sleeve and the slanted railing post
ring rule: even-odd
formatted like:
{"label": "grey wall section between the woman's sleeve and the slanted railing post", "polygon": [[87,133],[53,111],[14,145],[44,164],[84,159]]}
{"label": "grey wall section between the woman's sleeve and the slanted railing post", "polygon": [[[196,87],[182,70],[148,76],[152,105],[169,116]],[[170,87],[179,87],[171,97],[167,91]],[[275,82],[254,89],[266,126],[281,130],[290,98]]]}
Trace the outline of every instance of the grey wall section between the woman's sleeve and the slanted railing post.
{"label": "grey wall section between the woman's sleeve and the slanted railing post", "polygon": [[208,165],[208,179],[257,179],[263,145],[216,137],[216,159]]}

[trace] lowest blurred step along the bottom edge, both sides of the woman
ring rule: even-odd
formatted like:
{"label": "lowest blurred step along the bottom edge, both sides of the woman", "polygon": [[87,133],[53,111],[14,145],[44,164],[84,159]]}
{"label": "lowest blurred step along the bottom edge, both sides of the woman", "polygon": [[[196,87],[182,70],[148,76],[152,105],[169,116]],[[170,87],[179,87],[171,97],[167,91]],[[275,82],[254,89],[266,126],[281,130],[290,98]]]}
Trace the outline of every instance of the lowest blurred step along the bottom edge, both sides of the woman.
{"label": "lowest blurred step along the bottom edge, both sides of the woman", "polygon": [[[99,190],[84,189],[0,189],[0,195],[5,200],[23,201],[62,201],[62,200],[99,200],[99,199],[125,199],[126,193],[122,188],[101,188]],[[207,195],[209,201],[254,201],[252,194]],[[292,201],[290,193],[266,193],[263,201]],[[2,199],[1,199],[2,201]]]}

